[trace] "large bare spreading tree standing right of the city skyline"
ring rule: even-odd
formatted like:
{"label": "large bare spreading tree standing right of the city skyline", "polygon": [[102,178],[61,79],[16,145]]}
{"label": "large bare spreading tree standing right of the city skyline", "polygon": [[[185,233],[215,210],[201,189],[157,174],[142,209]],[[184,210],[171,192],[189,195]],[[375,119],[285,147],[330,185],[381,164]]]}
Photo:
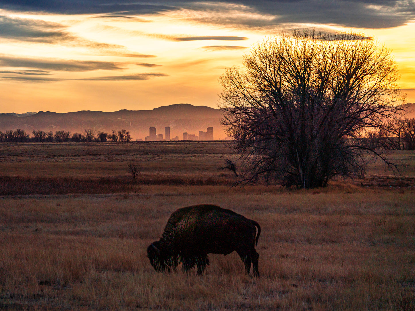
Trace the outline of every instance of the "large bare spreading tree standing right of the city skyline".
{"label": "large bare spreading tree standing right of the city skyline", "polygon": [[368,153],[391,165],[363,139],[403,109],[397,65],[378,41],[295,30],[256,44],[243,65],[219,78],[238,183],[325,187],[361,176]]}

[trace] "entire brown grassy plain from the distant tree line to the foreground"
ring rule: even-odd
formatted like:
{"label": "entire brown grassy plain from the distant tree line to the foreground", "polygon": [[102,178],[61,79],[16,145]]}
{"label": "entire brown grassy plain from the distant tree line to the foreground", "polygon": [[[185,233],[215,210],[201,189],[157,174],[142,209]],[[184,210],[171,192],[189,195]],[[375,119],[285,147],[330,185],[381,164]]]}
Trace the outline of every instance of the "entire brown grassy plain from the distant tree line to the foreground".
{"label": "entire brown grassy plain from the distant tree line to the foreground", "polygon": [[[401,176],[241,189],[222,142],[1,144],[0,309],[415,310],[415,153],[389,156]],[[261,224],[259,279],[234,253],[153,270],[149,243],[200,203]]]}

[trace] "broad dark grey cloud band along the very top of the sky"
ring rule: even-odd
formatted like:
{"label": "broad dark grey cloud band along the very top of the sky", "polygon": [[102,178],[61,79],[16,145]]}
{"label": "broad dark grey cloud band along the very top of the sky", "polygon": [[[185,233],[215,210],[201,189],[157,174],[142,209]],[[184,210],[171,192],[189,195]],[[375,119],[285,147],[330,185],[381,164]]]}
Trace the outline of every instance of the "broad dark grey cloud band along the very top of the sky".
{"label": "broad dark grey cloud band along the very top of the sky", "polygon": [[153,0],[151,4],[148,0],[0,0],[0,7],[21,12],[107,14],[116,18],[187,12],[184,18],[209,24],[264,29],[308,23],[388,28],[415,19],[413,0]]}

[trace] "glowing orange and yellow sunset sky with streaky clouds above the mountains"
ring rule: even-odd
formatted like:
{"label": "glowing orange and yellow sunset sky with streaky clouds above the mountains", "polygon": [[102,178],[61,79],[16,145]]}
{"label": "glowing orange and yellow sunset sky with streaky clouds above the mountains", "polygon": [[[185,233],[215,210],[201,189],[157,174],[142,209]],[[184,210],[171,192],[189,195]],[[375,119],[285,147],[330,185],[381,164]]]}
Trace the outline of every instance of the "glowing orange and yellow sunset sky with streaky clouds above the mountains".
{"label": "glowing orange and yellow sunset sky with streaky clouds above the mountains", "polygon": [[0,113],[217,108],[225,67],[303,28],[378,39],[415,102],[413,0],[0,0]]}

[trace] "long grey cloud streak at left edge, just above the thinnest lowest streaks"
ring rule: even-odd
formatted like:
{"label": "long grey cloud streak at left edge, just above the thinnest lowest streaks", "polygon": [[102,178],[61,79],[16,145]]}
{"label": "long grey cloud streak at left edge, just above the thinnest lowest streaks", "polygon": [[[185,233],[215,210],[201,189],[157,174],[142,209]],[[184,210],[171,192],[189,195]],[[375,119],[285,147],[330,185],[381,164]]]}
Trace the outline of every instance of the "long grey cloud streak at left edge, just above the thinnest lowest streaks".
{"label": "long grey cloud streak at left edge, just above the thinnest lowest streaks", "polygon": [[37,58],[18,58],[0,55],[2,67],[26,67],[59,71],[121,70],[121,63],[104,61],[46,60]]}

